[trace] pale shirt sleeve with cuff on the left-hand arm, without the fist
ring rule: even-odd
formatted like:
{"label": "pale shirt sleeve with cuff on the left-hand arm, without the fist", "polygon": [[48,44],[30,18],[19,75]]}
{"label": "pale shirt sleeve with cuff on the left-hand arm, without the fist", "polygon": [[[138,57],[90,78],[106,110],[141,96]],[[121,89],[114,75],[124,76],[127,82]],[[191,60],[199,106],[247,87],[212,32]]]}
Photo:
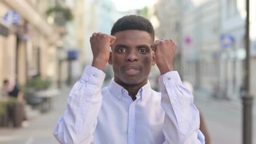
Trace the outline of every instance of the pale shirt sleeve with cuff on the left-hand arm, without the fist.
{"label": "pale shirt sleeve with cuff on the left-hand arm, without the fist", "polygon": [[102,105],[104,72],[87,66],[68,96],[67,108],[53,135],[61,144],[90,144]]}

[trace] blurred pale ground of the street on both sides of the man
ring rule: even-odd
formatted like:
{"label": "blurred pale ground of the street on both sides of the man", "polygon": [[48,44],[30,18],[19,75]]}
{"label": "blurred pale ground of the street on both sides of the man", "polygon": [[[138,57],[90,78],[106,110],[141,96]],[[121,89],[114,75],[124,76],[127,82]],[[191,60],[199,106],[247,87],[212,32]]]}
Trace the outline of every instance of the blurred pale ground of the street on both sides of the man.
{"label": "blurred pale ground of the street on both sides of the man", "polygon": [[[66,108],[66,98],[71,88],[63,88],[54,99],[54,108],[49,113],[29,121],[29,126],[19,129],[0,129],[0,144],[58,144],[53,136],[53,129]],[[241,144],[242,112],[239,102],[220,101],[210,98],[202,90],[195,90],[194,104],[202,111],[211,144]],[[256,119],[256,107],[254,104]],[[253,131],[256,131],[254,125]],[[256,137],[253,137],[256,144]]]}

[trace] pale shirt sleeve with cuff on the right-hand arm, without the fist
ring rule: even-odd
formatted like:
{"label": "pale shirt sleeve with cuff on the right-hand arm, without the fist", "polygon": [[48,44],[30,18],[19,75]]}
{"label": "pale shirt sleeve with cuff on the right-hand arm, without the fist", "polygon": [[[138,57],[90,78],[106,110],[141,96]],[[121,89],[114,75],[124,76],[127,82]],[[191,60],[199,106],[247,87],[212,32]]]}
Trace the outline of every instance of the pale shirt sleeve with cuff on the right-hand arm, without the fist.
{"label": "pale shirt sleeve with cuff on the right-hand arm, without the fist", "polygon": [[182,85],[179,74],[167,72],[158,80],[161,106],[165,111],[164,144],[204,144],[204,136],[199,130],[199,111],[193,104],[193,95]]}

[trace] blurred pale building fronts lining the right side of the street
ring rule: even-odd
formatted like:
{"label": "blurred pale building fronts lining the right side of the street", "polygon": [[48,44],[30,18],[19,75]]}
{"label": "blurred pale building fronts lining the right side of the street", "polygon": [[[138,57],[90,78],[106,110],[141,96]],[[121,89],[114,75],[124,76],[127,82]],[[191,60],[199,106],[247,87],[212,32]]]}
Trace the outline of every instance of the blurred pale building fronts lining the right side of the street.
{"label": "blurred pale building fronts lining the right side of the street", "polygon": [[[156,5],[159,37],[177,41],[181,49],[183,79],[213,96],[240,99],[243,86],[246,0],[159,0]],[[256,0],[250,0],[251,93],[256,85]],[[159,6],[158,6],[159,5]],[[177,9],[175,9],[177,7]],[[171,9],[171,10],[170,10]],[[179,14],[176,14],[178,11]],[[230,46],[223,46],[223,36],[230,36]],[[180,37],[180,41],[175,39]],[[177,56],[179,54],[177,53]]]}

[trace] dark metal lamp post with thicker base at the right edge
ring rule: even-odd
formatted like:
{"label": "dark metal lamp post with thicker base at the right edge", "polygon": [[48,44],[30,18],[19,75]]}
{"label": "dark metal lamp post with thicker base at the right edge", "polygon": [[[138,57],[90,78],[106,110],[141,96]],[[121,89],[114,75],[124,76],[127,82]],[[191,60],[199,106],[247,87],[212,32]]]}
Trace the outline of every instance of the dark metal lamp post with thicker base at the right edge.
{"label": "dark metal lamp post with thicker base at the right edge", "polygon": [[252,144],[252,105],[253,96],[250,94],[249,78],[250,78],[250,37],[249,37],[249,0],[246,0],[246,59],[244,76],[244,89],[241,91],[241,97],[243,100],[243,144]]}

